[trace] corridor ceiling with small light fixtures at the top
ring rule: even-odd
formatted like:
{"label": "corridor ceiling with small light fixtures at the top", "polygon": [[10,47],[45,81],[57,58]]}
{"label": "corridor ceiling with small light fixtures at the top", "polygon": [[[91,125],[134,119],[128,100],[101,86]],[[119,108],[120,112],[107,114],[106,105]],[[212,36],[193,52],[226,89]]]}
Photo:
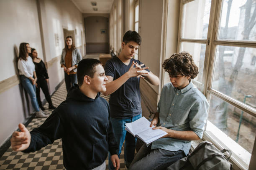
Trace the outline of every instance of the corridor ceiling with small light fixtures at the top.
{"label": "corridor ceiling with small light fixtures at the top", "polygon": [[[110,13],[113,0],[72,0],[72,2],[82,13]],[[97,2],[97,5],[92,6],[91,2]],[[93,10],[94,7],[97,11]]]}

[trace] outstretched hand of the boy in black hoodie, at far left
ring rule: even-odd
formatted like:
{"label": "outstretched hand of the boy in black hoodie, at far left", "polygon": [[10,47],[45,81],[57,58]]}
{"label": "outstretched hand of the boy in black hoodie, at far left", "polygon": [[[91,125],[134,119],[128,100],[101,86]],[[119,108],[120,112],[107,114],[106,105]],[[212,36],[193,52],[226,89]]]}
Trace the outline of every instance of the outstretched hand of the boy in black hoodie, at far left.
{"label": "outstretched hand of the boy in black hoodie, at far left", "polygon": [[10,139],[11,146],[14,151],[22,151],[27,149],[31,141],[31,135],[23,124],[19,124],[19,129],[21,132],[15,131]]}

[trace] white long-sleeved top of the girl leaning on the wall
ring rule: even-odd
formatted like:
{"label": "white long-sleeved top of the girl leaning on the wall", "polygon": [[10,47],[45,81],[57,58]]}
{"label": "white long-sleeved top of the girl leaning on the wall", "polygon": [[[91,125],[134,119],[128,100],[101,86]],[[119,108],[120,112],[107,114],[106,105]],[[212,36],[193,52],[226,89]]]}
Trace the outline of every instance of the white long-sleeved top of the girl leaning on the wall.
{"label": "white long-sleeved top of the girl leaning on the wall", "polygon": [[18,59],[18,69],[20,75],[25,75],[26,77],[33,77],[35,65],[32,58],[28,56],[26,61]]}

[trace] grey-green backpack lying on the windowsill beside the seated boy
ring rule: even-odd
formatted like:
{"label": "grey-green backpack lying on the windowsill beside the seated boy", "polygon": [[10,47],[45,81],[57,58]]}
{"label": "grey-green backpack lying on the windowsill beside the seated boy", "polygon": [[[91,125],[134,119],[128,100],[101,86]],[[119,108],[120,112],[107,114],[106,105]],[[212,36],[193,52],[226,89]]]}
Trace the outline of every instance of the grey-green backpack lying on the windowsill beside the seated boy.
{"label": "grey-green backpack lying on the windowsill beside the seated boy", "polygon": [[[228,152],[226,158],[223,153]],[[167,170],[232,170],[233,165],[228,162],[231,151],[218,150],[208,141],[201,142],[197,148],[187,157],[170,165]]]}

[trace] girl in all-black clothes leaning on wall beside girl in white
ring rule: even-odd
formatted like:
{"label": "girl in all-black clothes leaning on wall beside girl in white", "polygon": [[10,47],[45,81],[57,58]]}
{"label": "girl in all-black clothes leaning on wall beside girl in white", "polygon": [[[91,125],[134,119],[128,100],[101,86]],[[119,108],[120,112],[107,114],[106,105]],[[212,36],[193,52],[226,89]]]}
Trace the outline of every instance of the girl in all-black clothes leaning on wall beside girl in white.
{"label": "girl in all-black clothes leaning on wall beside girl in white", "polygon": [[38,57],[37,51],[35,48],[31,49],[31,53],[29,54],[32,59],[33,63],[35,65],[35,70],[36,70],[36,76],[37,76],[37,81],[36,81],[36,98],[39,107],[41,110],[45,110],[45,108],[42,105],[41,102],[41,97],[40,97],[40,88],[44,92],[44,96],[46,98],[46,101],[49,103],[49,109],[55,109],[54,105],[51,102],[51,96],[49,94],[49,89],[48,89],[48,82],[49,82],[49,76],[46,70],[46,67],[44,65],[44,62],[41,58]]}

